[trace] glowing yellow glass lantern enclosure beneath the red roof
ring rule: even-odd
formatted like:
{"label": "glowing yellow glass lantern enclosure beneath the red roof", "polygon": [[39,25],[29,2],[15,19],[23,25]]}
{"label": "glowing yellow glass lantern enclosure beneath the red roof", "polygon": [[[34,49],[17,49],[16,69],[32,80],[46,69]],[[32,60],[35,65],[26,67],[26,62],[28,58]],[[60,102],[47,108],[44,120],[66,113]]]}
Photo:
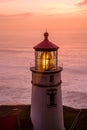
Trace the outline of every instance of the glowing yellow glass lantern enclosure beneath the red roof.
{"label": "glowing yellow glass lantern enclosure beneath the red roof", "polygon": [[57,51],[36,51],[35,68],[39,71],[48,71],[56,69]]}

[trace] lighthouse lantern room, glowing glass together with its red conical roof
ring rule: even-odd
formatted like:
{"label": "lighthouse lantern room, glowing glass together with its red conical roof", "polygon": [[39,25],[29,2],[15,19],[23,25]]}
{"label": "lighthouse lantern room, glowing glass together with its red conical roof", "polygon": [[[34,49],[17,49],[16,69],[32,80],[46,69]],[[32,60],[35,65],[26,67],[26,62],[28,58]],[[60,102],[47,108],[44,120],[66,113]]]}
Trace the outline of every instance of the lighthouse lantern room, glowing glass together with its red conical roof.
{"label": "lighthouse lantern room, glowing glass together with its red conical roof", "polygon": [[57,69],[58,46],[48,40],[49,34],[44,33],[44,40],[35,49],[35,70],[50,71]]}

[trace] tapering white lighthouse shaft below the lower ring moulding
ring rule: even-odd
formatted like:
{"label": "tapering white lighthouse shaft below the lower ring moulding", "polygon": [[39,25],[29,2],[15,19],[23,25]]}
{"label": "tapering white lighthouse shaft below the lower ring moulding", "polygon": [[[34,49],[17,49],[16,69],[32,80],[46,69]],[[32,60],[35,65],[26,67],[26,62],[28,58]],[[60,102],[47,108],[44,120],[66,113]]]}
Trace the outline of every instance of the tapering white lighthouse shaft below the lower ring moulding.
{"label": "tapering white lighthouse shaft below the lower ring moulding", "polygon": [[[57,102],[50,104],[49,93],[56,91]],[[61,90],[60,87],[55,88],[40,88],[33,87],[31,119],[34,130],[64,130],[63,115],[61,104]]]}

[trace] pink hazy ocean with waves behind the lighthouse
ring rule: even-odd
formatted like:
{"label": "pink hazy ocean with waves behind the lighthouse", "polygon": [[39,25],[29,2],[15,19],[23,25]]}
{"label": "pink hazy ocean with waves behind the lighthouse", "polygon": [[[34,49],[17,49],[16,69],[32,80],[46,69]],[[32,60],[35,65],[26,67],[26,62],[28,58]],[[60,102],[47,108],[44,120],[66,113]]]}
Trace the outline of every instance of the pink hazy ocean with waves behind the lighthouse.
{"label": "pink hazy ocean with waves behind the lighthouse", "polygon": [[[0,31],[0,105],[31,104],[33,46],[41,31]],[[87,108],[87,30],[54,30],[49,40],[60,47],[63,105]]]}

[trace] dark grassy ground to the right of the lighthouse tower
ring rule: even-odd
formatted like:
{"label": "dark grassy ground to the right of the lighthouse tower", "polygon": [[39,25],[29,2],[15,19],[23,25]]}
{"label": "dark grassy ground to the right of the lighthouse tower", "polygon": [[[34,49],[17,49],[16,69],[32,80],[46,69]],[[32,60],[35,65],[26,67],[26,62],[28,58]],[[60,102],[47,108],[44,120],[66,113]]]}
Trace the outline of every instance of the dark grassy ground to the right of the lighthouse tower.
{"label": "dark grassy ground to the right of the lighthouse tower", "polygon": [[63,106],[66,130],[87,130],[87,109]]}

